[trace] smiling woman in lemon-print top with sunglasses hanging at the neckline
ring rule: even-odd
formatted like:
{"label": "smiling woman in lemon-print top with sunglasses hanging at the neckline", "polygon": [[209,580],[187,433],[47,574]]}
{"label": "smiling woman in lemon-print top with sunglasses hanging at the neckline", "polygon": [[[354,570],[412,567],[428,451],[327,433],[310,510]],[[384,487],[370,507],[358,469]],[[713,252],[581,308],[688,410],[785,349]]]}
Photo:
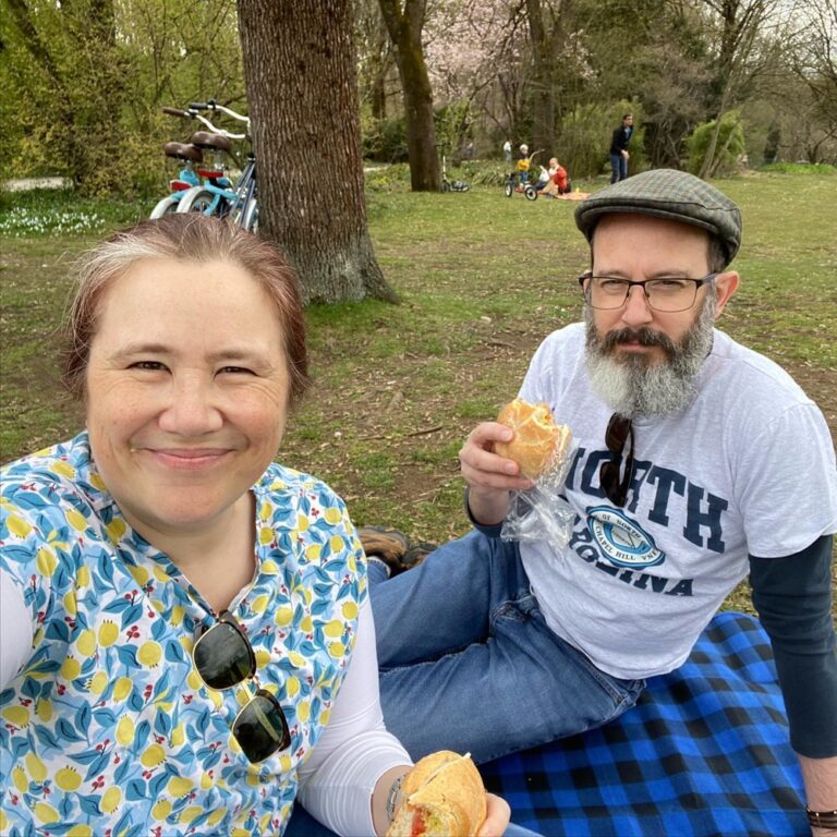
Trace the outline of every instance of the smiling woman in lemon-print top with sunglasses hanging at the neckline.
{"label": "smiling woman in lemon-print top with sunglasses hanging at the neckline", "polygon": [[278,834],[299,794],[383,834],[411,761],[363,549],[274,461],[307,384],[281,254],[198,215],[117,234],[80,264],[63,375],[86,429],[2,470],[0,832]]}

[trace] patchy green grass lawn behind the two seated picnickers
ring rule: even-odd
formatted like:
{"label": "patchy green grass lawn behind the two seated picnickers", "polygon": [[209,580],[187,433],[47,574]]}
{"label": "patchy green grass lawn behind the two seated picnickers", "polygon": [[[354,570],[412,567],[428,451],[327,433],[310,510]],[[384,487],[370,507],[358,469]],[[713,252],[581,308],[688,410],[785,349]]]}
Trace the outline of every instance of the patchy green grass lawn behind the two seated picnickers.
{"label": "patchy green grass lawn behind the two seated picnickers", "polygon": [[[742,283],[720,326],[787,368],[837,438],[837,175],[717,185],[744,218]],[[307,310],[314,385],[279,459],[328,482],[359,525],[425,541],[463,534],[463,439],[515,395],[541,340],[580,317],[589,255],[574,207],[489,187],[371,192],[375,250],[401,304]],[[0,236],[0,461],[81,427],[57,383],[54,332],[72,256],[99,236]],[[745,585],[726,606],[751,610]]]}

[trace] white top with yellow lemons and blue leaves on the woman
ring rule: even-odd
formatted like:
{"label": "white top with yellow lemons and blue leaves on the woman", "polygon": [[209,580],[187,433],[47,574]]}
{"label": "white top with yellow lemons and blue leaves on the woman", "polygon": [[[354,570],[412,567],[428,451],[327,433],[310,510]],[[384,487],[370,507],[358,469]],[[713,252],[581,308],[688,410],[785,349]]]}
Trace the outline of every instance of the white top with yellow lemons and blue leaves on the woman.
{"label": "white top with yellow lemons and blue leaves on the woman", "polygon": [[292,740],[251,765],[230,732],[246,695],[207,689],[193,667],[211,610],[126,523],[86,435],[1,475],[0,571],[20,589],[35,635],[0,693],[3,837],[280,834],[366,597],[340,498],[279,464],[252,488],[258,571],[234,616]]}

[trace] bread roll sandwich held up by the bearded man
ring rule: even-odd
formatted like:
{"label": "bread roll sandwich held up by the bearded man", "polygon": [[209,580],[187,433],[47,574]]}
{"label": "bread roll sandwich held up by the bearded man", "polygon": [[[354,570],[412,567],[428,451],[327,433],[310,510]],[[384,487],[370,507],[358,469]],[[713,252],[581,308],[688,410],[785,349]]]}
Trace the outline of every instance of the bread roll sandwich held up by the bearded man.
{"label": "bread roll sandwich held up by the bearded man", "polygon": [[515,398],[500,410],[497,421],[511,427],[514,436],[511,441],[495,441],[495,453],[513,459],[530,480],[549,471],[569,450],[572,432],[553,421],[548,404]]}

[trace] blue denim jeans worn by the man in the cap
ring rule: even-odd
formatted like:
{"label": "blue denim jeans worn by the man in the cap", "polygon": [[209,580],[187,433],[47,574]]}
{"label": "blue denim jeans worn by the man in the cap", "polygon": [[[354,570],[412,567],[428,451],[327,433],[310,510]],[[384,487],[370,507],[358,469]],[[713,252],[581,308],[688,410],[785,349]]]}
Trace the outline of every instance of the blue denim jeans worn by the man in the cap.
{"label": "blue denim jeans worn by the man in the cap", "polygon": [[616,718],[644,687],[547,628],[515,543],[472,532],[385,578],[369,561],[380,701],[413,759],[454,750],[483,763],[572,736]]}

